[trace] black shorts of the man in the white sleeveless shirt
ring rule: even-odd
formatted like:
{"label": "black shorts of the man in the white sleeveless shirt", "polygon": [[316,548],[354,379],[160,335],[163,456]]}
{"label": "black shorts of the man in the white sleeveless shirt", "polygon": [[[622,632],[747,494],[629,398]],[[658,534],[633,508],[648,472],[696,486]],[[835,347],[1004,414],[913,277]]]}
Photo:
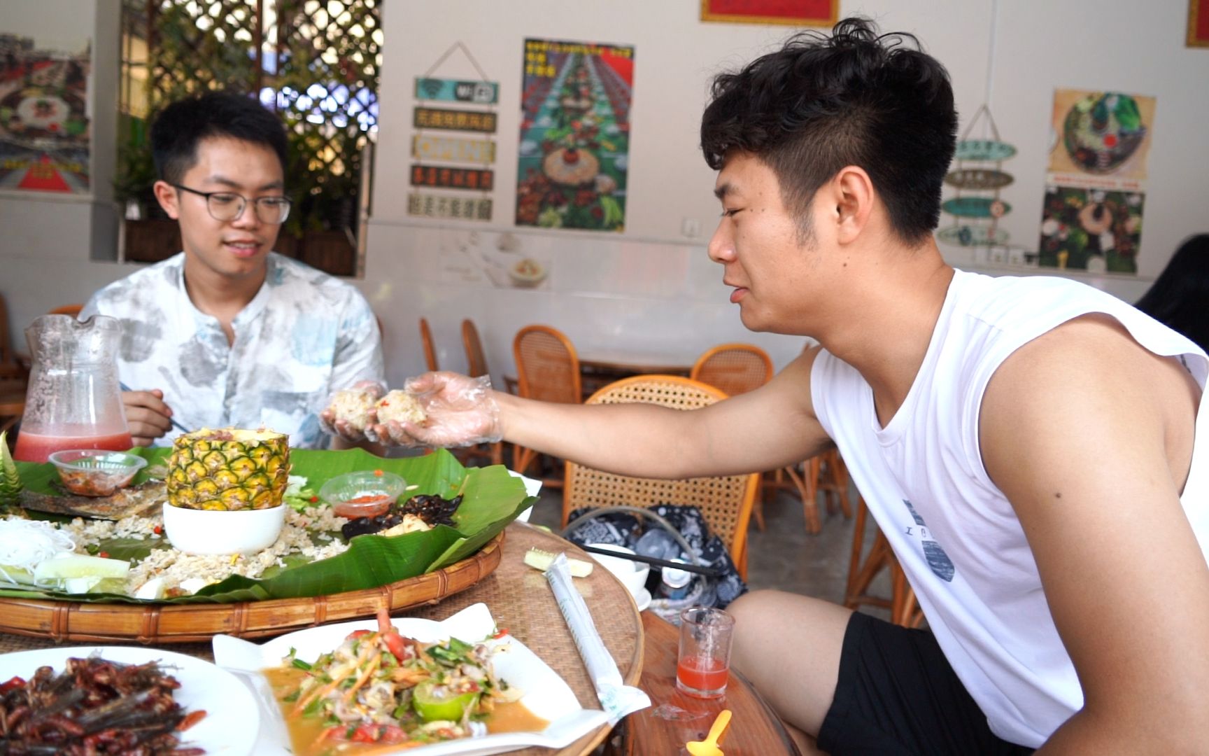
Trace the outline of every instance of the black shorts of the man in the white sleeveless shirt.
{"label": "black shorts of the man in the white sleeveless shirt", "polygon": [[844,754],[1031,754],[990,732],[936,639],[854,612],[818,748]]}

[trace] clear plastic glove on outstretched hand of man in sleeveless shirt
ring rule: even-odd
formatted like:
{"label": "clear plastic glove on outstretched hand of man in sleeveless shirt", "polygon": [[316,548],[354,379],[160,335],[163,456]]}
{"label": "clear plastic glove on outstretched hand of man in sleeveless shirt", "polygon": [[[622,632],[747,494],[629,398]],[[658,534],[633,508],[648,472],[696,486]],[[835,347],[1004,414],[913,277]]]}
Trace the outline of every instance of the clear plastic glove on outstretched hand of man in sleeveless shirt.
{"label": "clear plastic glove on outstretched hand of man in sleeveless shirt", "polygon": [[490,376],[426,373],[407,379],[404,391],[416,399],[424,420],[374,422],[365,428],[371,442],[450,448],[494,443],[504,437]]}

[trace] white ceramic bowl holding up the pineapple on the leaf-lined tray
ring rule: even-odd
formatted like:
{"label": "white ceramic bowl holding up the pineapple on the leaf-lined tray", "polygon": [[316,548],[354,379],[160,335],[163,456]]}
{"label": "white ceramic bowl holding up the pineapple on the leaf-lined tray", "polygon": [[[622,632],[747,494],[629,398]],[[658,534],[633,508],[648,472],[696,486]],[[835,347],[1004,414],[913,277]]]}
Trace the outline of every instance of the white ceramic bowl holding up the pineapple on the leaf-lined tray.
{"label": "white ceramic bowl holding up the pineapple on the leaf-lined tray", "polygon": [[163,506],[163,532],[186,554],[255,554],[277,541],[285,504],[272,509],[185,509]]}

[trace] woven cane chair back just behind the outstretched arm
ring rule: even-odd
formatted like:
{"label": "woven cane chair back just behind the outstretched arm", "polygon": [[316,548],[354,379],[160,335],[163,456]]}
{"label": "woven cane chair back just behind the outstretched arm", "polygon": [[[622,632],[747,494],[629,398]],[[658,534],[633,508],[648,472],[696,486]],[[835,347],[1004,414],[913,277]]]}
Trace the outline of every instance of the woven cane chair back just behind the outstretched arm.
{"label": "woven cane chair back just behind the outstretched arm", "polygon": [[[695,410],[724,399],[725,394],[701,381],[676,375],[636,375],[604,386],[585,404],[641,402],[679,410]],[[730,550],[739,575],[747,577],[747,523],[756,503],[759,473],[719,478],[661,480],[604,473],[575,462],[566,463],[562,490],[562,525],[580,507],[653,507],[692,504],[701,510],[710,530]]]}

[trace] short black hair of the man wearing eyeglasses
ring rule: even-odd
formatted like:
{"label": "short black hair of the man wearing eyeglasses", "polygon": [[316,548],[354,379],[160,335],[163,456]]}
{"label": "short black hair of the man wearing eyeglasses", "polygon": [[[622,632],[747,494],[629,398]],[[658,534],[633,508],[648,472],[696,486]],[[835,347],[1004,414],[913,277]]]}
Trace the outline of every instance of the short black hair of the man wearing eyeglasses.
{"label": "short black hair of the man wearing eyeglasses", "polygon": [[262,144],[277,154],[285,173],[285,127],[282,121],[245,94],[207,92],[164,108],[151,125],[151,156],[156,174],[179,184],[197,162],[197,144],[226,137]]}

